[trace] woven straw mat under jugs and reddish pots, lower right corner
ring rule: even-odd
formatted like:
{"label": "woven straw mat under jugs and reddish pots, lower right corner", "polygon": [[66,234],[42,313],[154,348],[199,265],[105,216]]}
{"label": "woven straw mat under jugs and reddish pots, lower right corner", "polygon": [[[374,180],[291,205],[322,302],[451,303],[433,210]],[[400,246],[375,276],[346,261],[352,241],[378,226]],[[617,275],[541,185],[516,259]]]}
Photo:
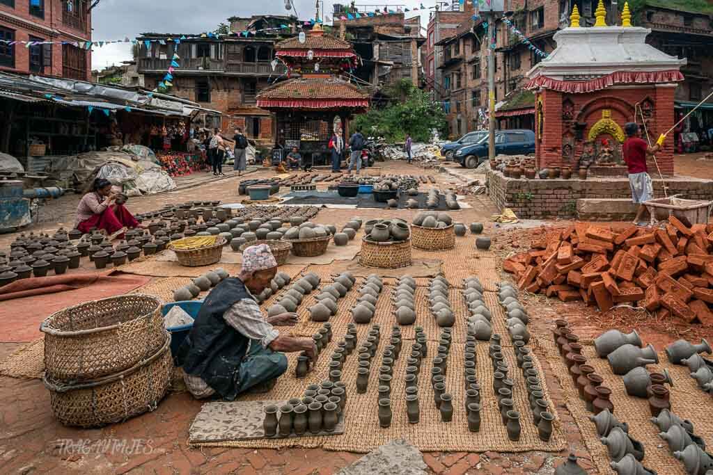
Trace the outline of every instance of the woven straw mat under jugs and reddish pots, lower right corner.
{"label": "woven straw mat under jugs and reddish pots, lower right corner", "polygon": [[[594,422],[588,419],[591,413],[585,408],[584,401],[580,400],[551,333],[539,343],[540,348],[545,350],[553,373],[560,379],[565,400],[568,401],[567,407],[580,428],[597,469],[602,474],[613,474],[614,471],[609,467],[607,448],[600,442]],[[684,475],[686,472],[682,462],[674,458],[665,440],[658,437],[659,428],[649,420],[651,413],[647,400],[627,395],[622,377],[612,372],[606,358],[597,357],[593,345],[585,345],[583,355],[587,357],[587,364],[595,368],[597,375],[604,378],[603,385],[612,390],[611,401],[617,419],[627,422],[629,434],[644,445],[644,466],[659,474]],[[648,365],[646,368],[650,372],[660,372],[664,369],[670,372],[674,386],[666,387],[671,395],[672,412],[682,419],[691,420],[695,434],[708,444],[713,442],[713,404],[710,395],[699,389],[696,380],[690,377],[687,367],[672,365],[663,352],[659,353],[659,362],[658,365]]]}

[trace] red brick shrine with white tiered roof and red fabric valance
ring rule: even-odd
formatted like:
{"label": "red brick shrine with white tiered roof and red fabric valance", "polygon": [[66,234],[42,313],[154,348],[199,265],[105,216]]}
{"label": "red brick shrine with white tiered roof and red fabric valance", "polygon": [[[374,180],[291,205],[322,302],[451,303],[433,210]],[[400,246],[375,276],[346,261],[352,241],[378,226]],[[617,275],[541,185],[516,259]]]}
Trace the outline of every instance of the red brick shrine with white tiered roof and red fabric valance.
{"label": "red brick shrine with white tiered roof and red fabric valance", "polygon": [[[637,122],[652,145],[674,125],[674,89],[686,60],[647,45],[648,33],[631,26],[570,26],[555,34],[558,47],[528,72],[538,168],[569,166],[576,173],[587,167],[594,176],[625,176],[624,125]],[[658,175],[658,165],[672,175],[673,152],[671,134],[656,163],[650,159],[650,173]]]}

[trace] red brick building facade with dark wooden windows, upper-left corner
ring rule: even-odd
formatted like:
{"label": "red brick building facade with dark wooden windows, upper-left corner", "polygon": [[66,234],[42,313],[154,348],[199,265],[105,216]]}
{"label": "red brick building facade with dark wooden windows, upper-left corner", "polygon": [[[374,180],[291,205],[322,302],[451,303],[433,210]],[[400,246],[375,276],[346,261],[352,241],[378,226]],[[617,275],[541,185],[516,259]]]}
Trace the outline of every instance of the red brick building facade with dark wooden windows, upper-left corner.
{"label": "red brick building facade with dark wooden windows, upper-left corner", "polygon": [[0,40],[66,41],[25,47],[0,43],[0,71],[91,80],[88,0],[0,0]]}

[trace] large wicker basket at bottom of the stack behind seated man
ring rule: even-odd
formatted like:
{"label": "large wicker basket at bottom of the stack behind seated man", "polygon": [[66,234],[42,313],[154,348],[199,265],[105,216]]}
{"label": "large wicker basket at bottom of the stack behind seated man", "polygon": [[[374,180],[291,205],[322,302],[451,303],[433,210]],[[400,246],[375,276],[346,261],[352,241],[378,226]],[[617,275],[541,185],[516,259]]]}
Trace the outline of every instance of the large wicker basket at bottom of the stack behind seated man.
{"label": "large wicker basket at bottom of the stack behind seated man", "polygon": [[77,384],[45,375],[54,416],[68,426],[101,427],[156,409],[173,375],[171,337],[163,332],[163,346],[153,355],[114,375]]}

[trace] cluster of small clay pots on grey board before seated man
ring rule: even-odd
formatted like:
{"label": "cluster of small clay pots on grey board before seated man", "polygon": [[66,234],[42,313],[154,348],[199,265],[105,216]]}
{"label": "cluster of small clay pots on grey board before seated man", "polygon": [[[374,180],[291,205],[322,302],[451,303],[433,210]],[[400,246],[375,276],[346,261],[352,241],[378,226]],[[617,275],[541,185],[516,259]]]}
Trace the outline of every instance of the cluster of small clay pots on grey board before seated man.
{"label": "cluster of small clay pots on grey board before seated man", "polygon": [[[301,356],[300,356],[301,357]],[[266,438],[284,438],[332,434],[344,420],[347,385],[340,379],[324,380],[307,386],[302,397],[293,397],[283,404],[265,406],[262,427]]]}

